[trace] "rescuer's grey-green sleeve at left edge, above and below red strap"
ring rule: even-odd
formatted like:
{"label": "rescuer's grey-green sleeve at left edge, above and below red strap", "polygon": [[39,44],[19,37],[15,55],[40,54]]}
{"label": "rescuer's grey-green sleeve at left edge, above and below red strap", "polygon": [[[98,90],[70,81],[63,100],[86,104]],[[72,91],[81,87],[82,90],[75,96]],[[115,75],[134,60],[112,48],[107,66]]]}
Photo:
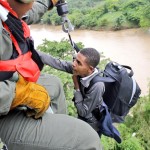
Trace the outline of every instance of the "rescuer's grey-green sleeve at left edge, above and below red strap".
{"label": "rescuer's grey-green sleeve at left edge, above and below red strap", "polygon": [[[0,19],[0,60],[7,60],[12,55],[12,42],[9,33],[4,29]],[[0,72],[0,78],[3,73]],[[17,80],[17,77],[16,77]],[[0,81],[0,116],[6,115],[15,96],[15,79],[14,82],[5,80]]]}

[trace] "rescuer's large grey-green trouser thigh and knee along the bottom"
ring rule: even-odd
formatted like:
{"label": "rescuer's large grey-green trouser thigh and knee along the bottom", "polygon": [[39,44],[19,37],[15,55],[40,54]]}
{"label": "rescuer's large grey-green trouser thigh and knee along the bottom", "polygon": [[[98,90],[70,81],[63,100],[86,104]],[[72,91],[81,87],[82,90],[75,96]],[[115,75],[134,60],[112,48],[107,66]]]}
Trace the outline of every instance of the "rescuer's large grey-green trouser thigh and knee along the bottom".
{"label": "rescuer's large grey-green trouser thigh and knee along the bottom", "polygon": [[0,120],[0,127],[0,136],[10,150],[102,149],[99,136],[90,125],[67,115],[45,114],[37,121],[13,111]]}

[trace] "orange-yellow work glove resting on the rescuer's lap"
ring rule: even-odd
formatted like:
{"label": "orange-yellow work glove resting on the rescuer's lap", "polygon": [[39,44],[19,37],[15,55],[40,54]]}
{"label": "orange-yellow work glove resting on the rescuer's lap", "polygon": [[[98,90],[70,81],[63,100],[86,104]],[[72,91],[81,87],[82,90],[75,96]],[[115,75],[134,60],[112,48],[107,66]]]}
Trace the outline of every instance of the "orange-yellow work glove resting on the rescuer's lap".
{"label": "orange-yellow work glove resting on the rescuer's lap", "polygon": [[18,106],[26,106],[28,108],[26,115],[38,119],[50,106],[50,97],[43,86],[28,82],[19,75],[19,80],[16,83],[16,95],[10,109]]}

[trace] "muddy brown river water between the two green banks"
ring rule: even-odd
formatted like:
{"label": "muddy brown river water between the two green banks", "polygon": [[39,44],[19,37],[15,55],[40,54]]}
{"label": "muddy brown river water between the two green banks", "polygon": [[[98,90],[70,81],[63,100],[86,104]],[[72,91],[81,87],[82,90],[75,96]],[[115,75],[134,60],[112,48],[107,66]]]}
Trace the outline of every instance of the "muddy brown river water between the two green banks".
{"label": "muddy brown river water between the two green banks", "polygon": [[[68,39],[61,27],[32,25],[31,35],[37,47],[43,39],[60,41]],[[89,31],[75,30],[71,32],[74,42],[82,42],[85,47],[96,48],[99,52],[123,65],[129,65],[142,89],[142,95],[148,94],[150,81],[150,31],[128,29],[122,31]]]}

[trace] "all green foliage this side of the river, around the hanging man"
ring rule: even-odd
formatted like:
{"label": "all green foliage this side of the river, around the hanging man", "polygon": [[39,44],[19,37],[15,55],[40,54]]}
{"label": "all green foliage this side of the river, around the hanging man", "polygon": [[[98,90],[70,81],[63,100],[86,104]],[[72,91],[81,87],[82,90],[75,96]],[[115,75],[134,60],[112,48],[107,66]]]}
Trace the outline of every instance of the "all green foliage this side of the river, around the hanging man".
{"label": "all green foliage this side of the river, around the hanging man", "polygon": [[[77,43],[80,48],[83,48],[82,43]],[[41,51],[50,53],[54,57],[63,60],[72,61],[73,50],[69,41],[62,39],[61,42],[44,40],[43,44],[38,47]],[[100,68],[103,69],[106,62],[103,59]],[[64,91],[68,104],[68,114],[76,116],[76,109],[72,102],[73,98],[73,83],[70,74],[58,71],[49,66],[45,66],[43,72],[58,76],[64,85]],[[150,87],[150,82],[149,82]],[[150,88],[149,88],[150,89]],[[150,149],[150,93],[149,96],[144,96],[139,99],[130,114],[126,117],[123,124],[116,124],[116,127],[121,133],[122,143],[117,144],[114,139],[102,136],[101,142],[105,150],[149,150]]]}

